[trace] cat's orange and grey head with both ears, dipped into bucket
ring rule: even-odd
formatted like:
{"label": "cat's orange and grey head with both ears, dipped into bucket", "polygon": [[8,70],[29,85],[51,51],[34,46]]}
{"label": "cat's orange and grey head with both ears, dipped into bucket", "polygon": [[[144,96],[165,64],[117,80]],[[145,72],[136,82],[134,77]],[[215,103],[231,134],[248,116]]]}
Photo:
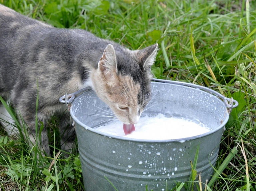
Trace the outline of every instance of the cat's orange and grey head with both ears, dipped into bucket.
{"label": "cat's orange and grey head with both ears, dipped into bucket", "polygon": [[142,50],[109,44],[98,62],[93,88],[124,124],[136,124],[150,101],[157,44]]}

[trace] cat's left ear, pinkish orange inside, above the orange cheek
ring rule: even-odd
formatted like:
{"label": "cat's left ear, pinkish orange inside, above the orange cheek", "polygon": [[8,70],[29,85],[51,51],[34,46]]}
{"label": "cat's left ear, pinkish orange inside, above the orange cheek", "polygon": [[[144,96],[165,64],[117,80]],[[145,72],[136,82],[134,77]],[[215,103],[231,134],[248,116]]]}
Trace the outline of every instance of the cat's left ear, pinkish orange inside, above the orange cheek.
{"label": "cat's left ear, pinkish orange inside, above the orange cheek", "polygon": [[116,53],[113,45],[108,45],[100,58],[98,68],[101,73],[116,72],[117,73],[117,62]]}

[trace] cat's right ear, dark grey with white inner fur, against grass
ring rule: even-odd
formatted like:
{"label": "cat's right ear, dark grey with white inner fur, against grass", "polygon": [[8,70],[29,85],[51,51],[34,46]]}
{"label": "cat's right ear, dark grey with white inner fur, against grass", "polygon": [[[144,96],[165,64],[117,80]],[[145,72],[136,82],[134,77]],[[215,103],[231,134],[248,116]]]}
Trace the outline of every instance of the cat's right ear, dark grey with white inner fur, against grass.
{"label": "cat's right ear, dark grey with white inner fur, against grass", "polygon": [[155,62],[158,45],[154,44],[142,50],[136,50],[137,57],[140,63],[143,64],[143,68],[150,69],[151,65]]}

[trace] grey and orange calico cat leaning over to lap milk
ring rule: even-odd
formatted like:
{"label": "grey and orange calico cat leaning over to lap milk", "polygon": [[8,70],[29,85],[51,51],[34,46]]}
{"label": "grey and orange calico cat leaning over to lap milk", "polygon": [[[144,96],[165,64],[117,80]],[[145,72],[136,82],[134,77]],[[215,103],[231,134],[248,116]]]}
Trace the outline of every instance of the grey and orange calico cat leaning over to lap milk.
{"label": "grey and orange calico cat leaning over to lap milk", "polygon": [[[62,150],[75,129],[59,98],[90,86],[124,124],[136,124],[150,100],[151,65],[158,45],[129,50],[80,29],[57,29],[0,5],[0,95],[27,124],[32,145],[50,155],[46,124],[58,116]],[[19,119],[20,122],[21,119]],[[39,132],[39,130],[38,130]]]}

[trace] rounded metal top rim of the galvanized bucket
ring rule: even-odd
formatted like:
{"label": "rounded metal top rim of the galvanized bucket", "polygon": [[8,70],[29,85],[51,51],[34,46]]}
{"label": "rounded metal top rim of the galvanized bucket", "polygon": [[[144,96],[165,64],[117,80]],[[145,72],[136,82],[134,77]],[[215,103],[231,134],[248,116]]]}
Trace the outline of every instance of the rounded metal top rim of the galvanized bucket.
{"label": "rounded metal top rim of the galvanized bucket", "polygon": [[[161,81],[158,81],[158,80],[153,79],[153,81],[151,81],[151,82],[155,82],[155,83],[169,83],[169,82],[165,82],[165,81],[170,81],[170,80],[161,80]],[[193,87],[192,87],[192,86],[190,86],[190,83],[187,83],[187,82],[182,82],[182,83],[181,83],[181,82],[178,82],[178,83],[177,83],[177,82],[178,82],[178,81],[174,81],[174,84],[173,84],[173,85],[177,85],[177,86],[189,86],[189,87],[194,88],[194,89],[199,88],[199,89],[202,91],[201,87],[203,87],[203,86],[193,84]],[[205,88],[205,87],[204,87],[204,88]],[[185,142],[185,141],[200,139],[200,138],[202,138],[202,137],[206,137],[206,136],[209,136],[209,135],[211,135],[211,134],[214,134],[215,132],[217,132],[217,131],[221,130],[222,128],[224,128],[225,125],[227,124],[228,119],[229,119],[229,111],[227,110],[227,105],[226,105],[226,103],[224,102],[224,100],[221,100],[221,99],[219,98],[219,96],[218,96],[219,93],[218,93],[218,92],[216,92],[216,91],[214,91],[214,90],[212,90],[212,89],[210,89],[210,90],[211,90],[210,93],[209,93],[208,91],[204,91],[204,92],[206,92],[206,93],[208,93],[208,94],[210,94],[210,95],[211,95],[211,94],[217,95],[216,97],[219,99],[219,101],[222,102],[222,103],[225,105],[225,107],[226,107],[226,112],[225,112],[225,114],[224,114],[225,119],[223,120],[223,122],[222,122],[217,128],[215,128],[215,129],[213,129],[213,130],[211,130],[211,131],[209,131],[209,132],[207,132],[207,133],[200,134],[200,135],[193,136],[193,137],[186,137],[186,138],[180,138],[180,139],[168,139],[168,140],[132,139],[132,138],[127,138],[127,137],[121,137],[121,136],[116,136],[116,135],[107,134],[107,133],[101,132],[101,131],[99,131],[99,130],[96,130],[96,129],[94,129],[94,128],[88,127],[87,125],[85,125],[84,123],[82,123],[80,120],[78,120],[77,117],[74,115],[74,113],[73,113],[73,107],[72,107],[73,104],[72,104],[71,107],[70,107],[70,115],[71,115],[72,119],[73,119],[78,125],[80,125],[82,128],[84,128],[85,130],[89,130],[89,131],[92,132],[92,133],[96,133],[96,134],[98,134],[98,135],[101,135],[101,136],[104,136],[104,137],[108,137],[108,138],[110,138],[110,139],[117,139],[117,140],[129,141],[129,142],[140,142],[140,143],[170,143],[170,142],[180,142],[180,143],[183,143],[183,142]],[[92,90],[88,90],[88,91],[92,91]],[[78,97],[80,97],[80,95],[79,95]],[[76,97],[76,98],[74,99],[74,101],[75,101],[78,97]],[[224,97],[224,96],[223,96],[223,97]],[[75,127],[75,128],[77,128],[77,127]]]}

